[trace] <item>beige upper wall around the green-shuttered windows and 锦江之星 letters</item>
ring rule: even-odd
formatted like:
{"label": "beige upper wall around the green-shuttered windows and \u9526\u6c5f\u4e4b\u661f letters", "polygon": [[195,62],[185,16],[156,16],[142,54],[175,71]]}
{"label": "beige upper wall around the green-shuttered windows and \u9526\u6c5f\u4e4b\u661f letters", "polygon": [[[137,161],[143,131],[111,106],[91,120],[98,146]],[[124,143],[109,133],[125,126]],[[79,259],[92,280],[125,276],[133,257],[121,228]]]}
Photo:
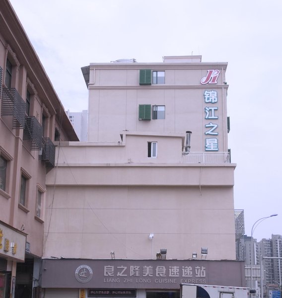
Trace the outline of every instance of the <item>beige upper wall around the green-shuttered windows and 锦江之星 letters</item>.
{"label": "beige upper wall around the green-shuttered windows and \u9526\u6c5f\u4e4b\u661f letters", "polygon": [[[167,60],[165,60],[167,61]],[[182,60],[179,60],[182,61]],[[110,63],[90,64],[89,142],[117,142],[119,132],[192,131],[192,148],[205,151],[205,125],[217,124],[219,151],[227,151],[227,64],[187,63]],[[165,84],[140,85],[141,69],[165,71]],[[208,70],[220,72],[216,84],[201,84]],[[205,91],[216,91],[217,102],[206,103]],[[139,120],[139,105],[164,105],[165,119]],[[205,107],[216,106],[216,120],[205,119]]]}

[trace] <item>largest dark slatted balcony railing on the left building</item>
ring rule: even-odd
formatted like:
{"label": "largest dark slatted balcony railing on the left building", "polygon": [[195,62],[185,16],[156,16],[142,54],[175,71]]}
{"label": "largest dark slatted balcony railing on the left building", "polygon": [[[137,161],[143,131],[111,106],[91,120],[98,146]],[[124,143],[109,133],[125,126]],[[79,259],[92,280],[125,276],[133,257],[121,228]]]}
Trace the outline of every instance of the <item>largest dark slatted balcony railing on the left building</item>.
{"label": "largest dark slatted balcony railing on the left building", "polygon": [[15,88],[2,89],[1,116],[13,116],[13,128],[25,126],[25,102]]}

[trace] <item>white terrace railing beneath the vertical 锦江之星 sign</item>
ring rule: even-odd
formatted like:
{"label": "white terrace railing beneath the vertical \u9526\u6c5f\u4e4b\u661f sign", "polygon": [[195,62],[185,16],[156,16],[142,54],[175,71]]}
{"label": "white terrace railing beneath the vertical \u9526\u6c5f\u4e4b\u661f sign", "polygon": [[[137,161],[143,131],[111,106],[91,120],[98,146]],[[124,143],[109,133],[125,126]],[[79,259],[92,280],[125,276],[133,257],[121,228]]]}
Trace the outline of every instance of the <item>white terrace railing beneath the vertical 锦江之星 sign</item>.
{"label": "white terrace railing beneath the vertical \u9526\u6c5f\u4e4b\u661f sign", "polygon": [[229,163],[229,152],[190,152],[182,155],[183,163]]}

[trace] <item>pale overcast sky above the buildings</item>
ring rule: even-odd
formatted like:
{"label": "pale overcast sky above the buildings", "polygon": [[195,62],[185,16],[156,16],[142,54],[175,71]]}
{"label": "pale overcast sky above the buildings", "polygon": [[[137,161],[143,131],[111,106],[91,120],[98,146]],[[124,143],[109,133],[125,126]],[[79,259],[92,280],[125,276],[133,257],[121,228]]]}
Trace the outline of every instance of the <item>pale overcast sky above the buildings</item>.
{"label": "pale overcast sky above the buildings", "polygon": [[[228,62],[235,209],[245,233],[282,234],[281,0],[10,0],[65,109],[87,109],[80,68],[202,55]],[[280,184],[281,183],[281,184]]]}

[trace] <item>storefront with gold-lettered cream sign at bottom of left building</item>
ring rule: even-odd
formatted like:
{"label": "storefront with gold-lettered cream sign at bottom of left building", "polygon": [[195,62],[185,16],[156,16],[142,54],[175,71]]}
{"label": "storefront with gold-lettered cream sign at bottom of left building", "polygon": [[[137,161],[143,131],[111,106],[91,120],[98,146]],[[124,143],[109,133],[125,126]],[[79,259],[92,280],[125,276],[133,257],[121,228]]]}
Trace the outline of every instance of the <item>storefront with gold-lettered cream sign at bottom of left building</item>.
{"label": "storefront with gold-lettered cream sign at bottom of left building", "polygon": [[25,233],[0,222],[0,298],[14,297],[16,262],[24,262],[25,242]]}

